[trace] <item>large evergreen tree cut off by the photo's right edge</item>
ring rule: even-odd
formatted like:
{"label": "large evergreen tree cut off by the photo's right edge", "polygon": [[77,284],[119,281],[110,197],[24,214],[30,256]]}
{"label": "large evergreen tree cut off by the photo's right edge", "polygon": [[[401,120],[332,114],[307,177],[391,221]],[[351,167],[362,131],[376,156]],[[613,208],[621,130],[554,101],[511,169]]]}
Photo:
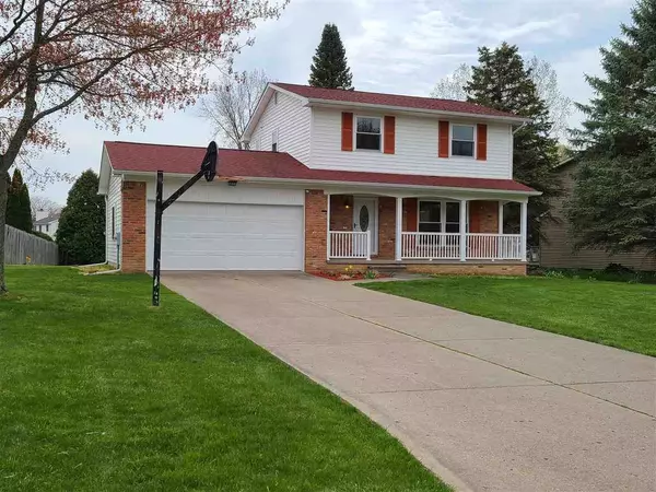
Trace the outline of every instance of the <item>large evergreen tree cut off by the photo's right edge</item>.
{"label": "large evergreen tree cut off by the photo's right edge", "polygon": [[576,246],[656,255],[656,0],[631,11],[623,37],[601,48],[606,77],[587,77],[596,97],[577,105],[582,149],[566,206]]}

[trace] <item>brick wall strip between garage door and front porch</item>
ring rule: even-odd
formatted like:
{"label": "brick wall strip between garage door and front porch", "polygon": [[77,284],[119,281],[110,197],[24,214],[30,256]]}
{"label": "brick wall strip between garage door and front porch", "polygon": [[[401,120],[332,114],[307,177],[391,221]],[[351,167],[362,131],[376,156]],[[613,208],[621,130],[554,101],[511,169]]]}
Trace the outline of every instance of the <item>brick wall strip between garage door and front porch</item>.
{"label": "brick wall strip between garage door and front porch", "polygon": [[328,197],[321,189],[305,190],[305,271],[326,269]]}

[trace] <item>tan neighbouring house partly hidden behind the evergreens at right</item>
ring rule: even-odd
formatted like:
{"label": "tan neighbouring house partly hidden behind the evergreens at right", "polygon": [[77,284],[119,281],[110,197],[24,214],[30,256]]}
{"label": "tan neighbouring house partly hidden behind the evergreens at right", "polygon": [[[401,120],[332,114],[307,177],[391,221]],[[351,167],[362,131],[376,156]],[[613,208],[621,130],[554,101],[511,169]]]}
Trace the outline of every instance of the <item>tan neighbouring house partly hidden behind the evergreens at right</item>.
{"label": "tan neighbouring house partly hidden behind the evergreens at right", "polygon": [[577,157],[571,157],[563,161],[559,166],[563,195],[552,202],[557,221],[548,222],[542,226],[546,241],[540,244],[540,266],[600,270],[609,263],[621,263],[634,270],[656,270],[656,258],[641,250],[617,255],[609,255],[604,249],[583,248],[577,251],[574,250],[575,241],[563,208],[574,192],[574,176],[578,162]]}

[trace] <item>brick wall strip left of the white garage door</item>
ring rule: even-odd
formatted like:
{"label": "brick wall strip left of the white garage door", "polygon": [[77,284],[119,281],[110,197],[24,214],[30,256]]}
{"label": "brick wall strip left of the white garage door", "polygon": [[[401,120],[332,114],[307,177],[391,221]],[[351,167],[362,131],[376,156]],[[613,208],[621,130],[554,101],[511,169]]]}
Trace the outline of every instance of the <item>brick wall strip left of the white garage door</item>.
{"label": "brick wall strip left of the white garage door", "polygon": [[145,183],[122,185],[121,271],[145,271]]}

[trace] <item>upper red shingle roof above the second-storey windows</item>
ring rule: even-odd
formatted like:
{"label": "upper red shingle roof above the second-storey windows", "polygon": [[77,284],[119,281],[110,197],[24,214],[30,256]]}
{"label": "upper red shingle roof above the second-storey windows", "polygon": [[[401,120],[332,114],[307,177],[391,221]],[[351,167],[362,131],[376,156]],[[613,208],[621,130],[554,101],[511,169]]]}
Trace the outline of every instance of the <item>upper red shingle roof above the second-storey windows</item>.
{"label": "upper red shingle roof above the second-storey windows", "polygon": [[500,112],[464,101],[438,99],[435,97],[417,97],[376,92],[344,91],[343,89],[323,89],[309,85],[285,84],[274,82],[273,85],[293,92],[303,97],[323,101],[338,101],[353,104],[375,104],[378,106],[396,106],[399,108],[429,109],[447,113],[465,113],[479,116],[499,116],[504,118],[526,119],[512,113]]}

